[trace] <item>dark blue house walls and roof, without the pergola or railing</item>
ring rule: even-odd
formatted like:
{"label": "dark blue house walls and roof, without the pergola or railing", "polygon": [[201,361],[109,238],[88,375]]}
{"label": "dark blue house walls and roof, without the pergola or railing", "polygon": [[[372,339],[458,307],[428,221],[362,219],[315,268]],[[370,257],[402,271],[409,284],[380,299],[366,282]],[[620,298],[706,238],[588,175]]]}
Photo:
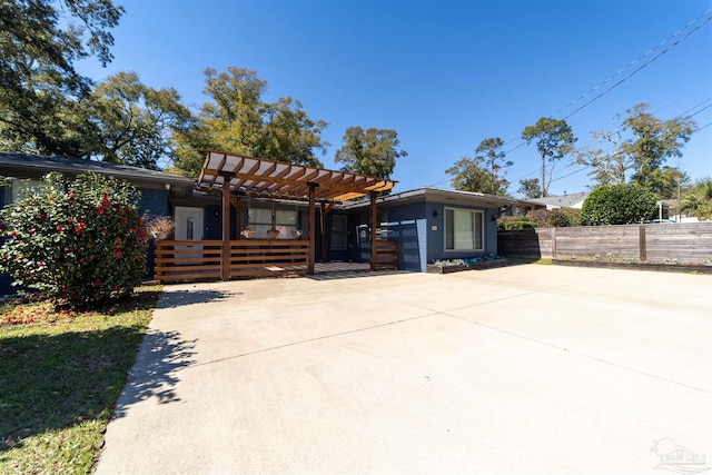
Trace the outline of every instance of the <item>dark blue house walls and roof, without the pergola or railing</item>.
{"label": "dark blue house walls and roof, without the pergola or railing", "polygon": [[[268,160],[261,162],[269,164]],[[314,169],[313,172],[336,174],[319,170]],[[0,206],[13,202],[22,188],[31,186],[50,171],[59,171],[70,178],[91,171],[123,179],[141,192],[140,214],[170,216],[175,220],[176,228],[169,239],[222,239],[226,222],[222,220],[225,207],[221,198],[215,192],[206,192],[206,187],[201,187],[196,179],[101,161],[0,152],[0,176],[6,177],[6,185],[0,187]],[[215,181],[215,178],[208,179],[205,175],[201,178]],[[275,179],[284,180],[279,177]],[[353,177],[346,179],[354,181]],[[525,215],[531,209],[544,206],[535,200],[421,188],[377,197],[376,227],[372,229],[368,199],[320,201],[314,214],[315,236],[310,238],[308,204],[287,198],[241,196],[241,205],[230,207],[229,239],[241,240],[241,230],[247,226],[254,230],[255,239],[270,239],[268,231],[277,228],[280,234],[273,243],[309,239],[315,261],[367,263],[370,232],[375,232],[377,240],[397,243],[398,269],[424,271],[426,265],[436,259],[496,255],[496,218]],[[151,247],[149,270],[152,265]],[[7,286],[1,287],[0,284],[0,294],[8,291]]]}

